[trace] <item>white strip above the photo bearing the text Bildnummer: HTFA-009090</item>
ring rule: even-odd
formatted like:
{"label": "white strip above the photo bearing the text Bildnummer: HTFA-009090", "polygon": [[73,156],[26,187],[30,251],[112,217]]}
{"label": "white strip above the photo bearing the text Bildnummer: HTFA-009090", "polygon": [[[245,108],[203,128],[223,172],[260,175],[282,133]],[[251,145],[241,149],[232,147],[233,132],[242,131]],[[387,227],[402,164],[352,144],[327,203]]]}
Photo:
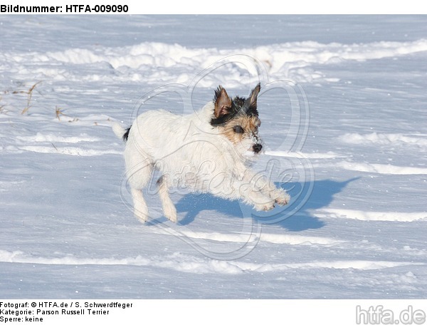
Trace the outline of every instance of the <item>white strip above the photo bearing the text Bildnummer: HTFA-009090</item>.
{"label": "white strip above the photo bearing the text Bildnummer: HTFA-009090", "polygon": [[[419,0],[406,1],[342,1],[342,0],[24,0],[2,1],[20,6],[65,6],[122,4],[129,7],[125,14],[426,14]],[[80,13],[85,14],[85,13]]]}

